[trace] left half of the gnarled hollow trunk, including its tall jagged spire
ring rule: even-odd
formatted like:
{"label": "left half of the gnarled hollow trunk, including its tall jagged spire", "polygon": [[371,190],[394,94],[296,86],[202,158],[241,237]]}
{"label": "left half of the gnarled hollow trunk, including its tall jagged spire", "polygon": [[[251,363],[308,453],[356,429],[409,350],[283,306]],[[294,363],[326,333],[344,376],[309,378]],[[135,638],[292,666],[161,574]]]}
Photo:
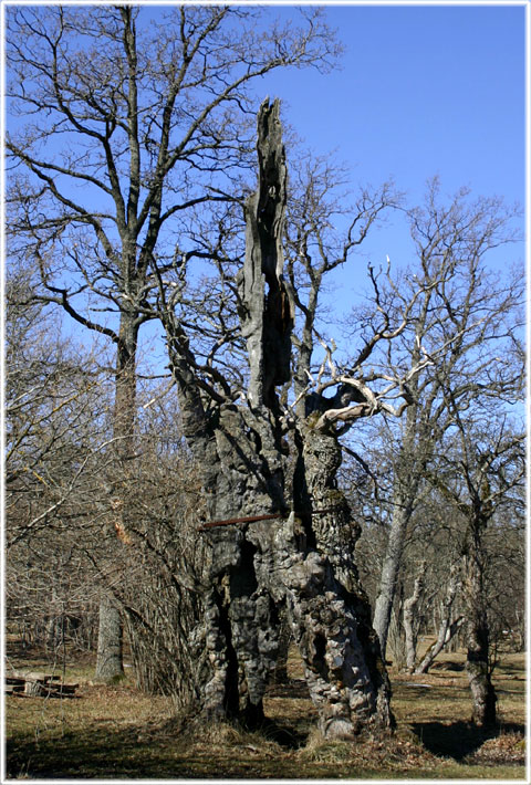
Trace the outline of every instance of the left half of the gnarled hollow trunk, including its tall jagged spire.
{"label": "left half of the gnarled hollow trunk, including its tall jagged spire", "polygon": [[[290,378],[293,326],[282,279],[285,163],[278,103],[260,108],[258,154],[259,187],[246,205],[246,259],[238,275],[248,406],[220,406],[217,421],[207,427],[207,443],[197,438],[205,432],[200,428],[189,432],[206,469],[207,509],[215,520],[275,512],[280,520],[290,506],[275,395],[275,386]],[[197,402],[189,405],[196,407],[196,426],[204,418]],[[268,521],[209,530],[212,589],[206,599],[206,640],[212,676],[205,711],[210,716],[236,716],[251,725],[263,719],[262,697],[279,642],[278,606],[285,594],[272,579],[275,528]]]}

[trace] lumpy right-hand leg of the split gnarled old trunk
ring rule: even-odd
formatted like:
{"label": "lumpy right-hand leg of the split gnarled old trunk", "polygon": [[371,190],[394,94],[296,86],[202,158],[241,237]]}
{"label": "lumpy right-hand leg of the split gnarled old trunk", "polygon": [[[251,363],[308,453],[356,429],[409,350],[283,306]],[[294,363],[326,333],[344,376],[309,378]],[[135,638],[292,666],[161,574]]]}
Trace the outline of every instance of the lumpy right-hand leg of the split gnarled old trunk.
{"label": "lumpy right-hand leg of the split gnarled old trunk", "polygon": [[304,484],[296,494],[314,514],[300,519],[305,547],[296,548],[295,524],[288,534],[292,564],[283,582],[321,732],[352,739],[362,729],[391,728],[394,720],[371,606],[353,559],[360,527],[335,479],[341,447],[333,431],[313,428],[317,418],[315,412],[301,423]]}

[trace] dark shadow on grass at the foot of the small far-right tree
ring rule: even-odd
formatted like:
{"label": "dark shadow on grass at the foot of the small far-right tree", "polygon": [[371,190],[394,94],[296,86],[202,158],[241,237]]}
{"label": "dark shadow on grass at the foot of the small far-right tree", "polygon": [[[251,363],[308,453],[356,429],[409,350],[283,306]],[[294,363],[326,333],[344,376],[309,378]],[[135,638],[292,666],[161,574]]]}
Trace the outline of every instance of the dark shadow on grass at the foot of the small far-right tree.
{"label": "dark shadow on grass at the foot of the small far-right tree", "polygon": [[452,722],[447,725],[442,722],[415,722],[413,732],[423,742],[426,750],[434,755],[452,757],[460,762],[471,755],[488,740],[503,733],[524,733],[524,725],[508,723],[500,730],[485,731],[469,722]]}

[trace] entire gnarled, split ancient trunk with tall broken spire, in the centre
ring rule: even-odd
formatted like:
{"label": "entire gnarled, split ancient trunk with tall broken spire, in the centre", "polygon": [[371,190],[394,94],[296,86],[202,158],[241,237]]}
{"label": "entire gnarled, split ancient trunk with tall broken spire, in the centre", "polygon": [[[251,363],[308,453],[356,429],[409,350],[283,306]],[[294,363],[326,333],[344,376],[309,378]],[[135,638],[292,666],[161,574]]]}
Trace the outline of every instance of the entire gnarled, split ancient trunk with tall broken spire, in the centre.
{"label": "entire gnarled, split ancient trunk with tall broken spire, in the centre", "polygon": [[238,275],[247,401],[221,404],[207,417],[188,348],[177,342],[171,357],[209,516],[277,515],[205,530],[212,568],[204,710],[218,720],[262,721],[285,613],[323,734],[352,739],[393,723],[389,683],[352,558],[358,528],[336,488],[341,448],[333,427],[317,430],[319,412],[300,419],[287,454],[275,387],[291,376],[294,310],[282,276],[285,163],[277,102],[262,104],[258,128],[259,187],[246,205],[247,252]]}

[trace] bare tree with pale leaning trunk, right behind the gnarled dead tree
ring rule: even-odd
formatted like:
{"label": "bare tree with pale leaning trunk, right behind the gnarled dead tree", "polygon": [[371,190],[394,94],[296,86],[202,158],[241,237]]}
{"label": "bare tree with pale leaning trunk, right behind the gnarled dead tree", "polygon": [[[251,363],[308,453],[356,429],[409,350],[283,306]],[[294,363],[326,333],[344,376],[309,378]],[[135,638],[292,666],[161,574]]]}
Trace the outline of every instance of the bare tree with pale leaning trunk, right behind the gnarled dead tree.
{"label": "bare tree with pale leaning trunk, right behind the gnarled dead tree", "polygon": [[470,200],[466,190],[445,205],[434,180],[425,207],[410,216],[416,262],[378,293],[384,304],[396,292],[410,297],[417,282],[424,292],[383,362],[415,367],[421,353],[434,357],[408,384],[410,406],[404,418],[381,431],[381,477],[392,478],[391,488],[384,481],[378,490],[381,500],[388,500],[391,517],[374,614],[384,652],[407,530],[423,493],[429,492],[426,473],[437,464],[440,440],[454,426],[445,388],[451,387],[456,401],[469,407],[479,398],[503,405],[519,384],[514,331],[521,285],[517,275],[497,279],[487,268],[489,252],[514,240],[513,217],[499,199]]}

